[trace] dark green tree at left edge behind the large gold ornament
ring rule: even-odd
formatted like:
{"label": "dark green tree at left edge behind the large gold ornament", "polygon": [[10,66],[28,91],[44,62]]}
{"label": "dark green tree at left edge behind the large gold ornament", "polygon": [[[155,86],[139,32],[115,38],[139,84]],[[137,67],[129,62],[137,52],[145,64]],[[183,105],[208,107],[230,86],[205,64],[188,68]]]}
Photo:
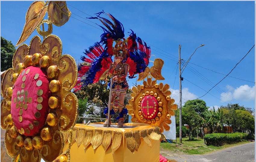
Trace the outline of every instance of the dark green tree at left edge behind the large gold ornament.
{"label": "dark green tree at left edge behind the large gold ornament", "polygon": [[5,71],[12,67],[12,57],[15,52],[15,46],[11,41],[1,36],[1,71]]}

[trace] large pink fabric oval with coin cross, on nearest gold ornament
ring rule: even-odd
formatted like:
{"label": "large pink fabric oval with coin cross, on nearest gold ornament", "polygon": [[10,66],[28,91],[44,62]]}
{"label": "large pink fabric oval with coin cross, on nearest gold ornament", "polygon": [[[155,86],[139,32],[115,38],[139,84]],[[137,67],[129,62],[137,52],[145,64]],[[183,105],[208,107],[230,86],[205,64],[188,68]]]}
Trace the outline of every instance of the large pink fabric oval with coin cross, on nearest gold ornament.
{"label": "large pink fabric oval with coin cross, on nearest gold ornament", "polygon": [[39,67],[24,69],[14,83],[11,116],[20,134],[34,136],[45,124],[51,96],[47,73]]}

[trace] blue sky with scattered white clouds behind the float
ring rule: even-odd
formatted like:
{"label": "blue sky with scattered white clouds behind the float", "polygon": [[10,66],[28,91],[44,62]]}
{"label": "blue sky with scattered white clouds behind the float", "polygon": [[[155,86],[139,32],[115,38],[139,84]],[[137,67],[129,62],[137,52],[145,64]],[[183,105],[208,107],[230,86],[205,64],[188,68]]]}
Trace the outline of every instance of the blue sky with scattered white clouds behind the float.
{"label": "blue sky with scattered white clouds behind the float", "polygon": [[[14,45],[31,3],[1,1],[1,36]],[[181,58],[186,61],[198,46],[205,44],[196,50],[182,73],[182,103],[199,98],[208,107],[228,103],[255,107],[254,1],[67,1],[67,7],[72,13],[69,21],[61,27],[53,25],[52,34],[60,37],[63,54],[70,54],[77,62],[84,49],[99,41],[103,33],[95,24],[101,25],[99,21],[86,17],[104,10],[123,23],[126,37],[132,29],[151,46],[152,61],[164,60],[165,80],[158,83],[170,85],[176,104],[180,101],[179,45]],[[39,34],[34,31],[24,43],[29,45],[35,35]],[[128,83],[132,87],[136,78]]]}

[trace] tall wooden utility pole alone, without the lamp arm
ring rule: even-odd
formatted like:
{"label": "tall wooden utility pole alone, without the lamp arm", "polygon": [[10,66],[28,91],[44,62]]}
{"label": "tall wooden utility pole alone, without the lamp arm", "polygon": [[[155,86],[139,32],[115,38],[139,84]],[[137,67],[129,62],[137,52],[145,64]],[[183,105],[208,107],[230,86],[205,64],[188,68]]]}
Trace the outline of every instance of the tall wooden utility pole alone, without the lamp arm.
{"label": "tall wooden utility pole alone, without the lamp arm", "polygon": [[180,143],[182,143],[182,114],[181,114],[181,99],[182,99],[182,87],[181,87],[181,81],[183,78],[181,77],[181,59],[180,59],[180,49],[181,45],[179,45],[179,72],[180,72]]}

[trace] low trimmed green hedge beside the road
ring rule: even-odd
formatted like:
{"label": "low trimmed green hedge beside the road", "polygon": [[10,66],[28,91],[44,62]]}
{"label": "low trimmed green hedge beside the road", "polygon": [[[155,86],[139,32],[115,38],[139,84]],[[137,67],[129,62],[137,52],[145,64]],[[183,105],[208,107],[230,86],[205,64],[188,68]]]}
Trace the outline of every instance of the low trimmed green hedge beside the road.
{"label": "low trimmed green hedge beside the road", "polygon": [[240,142],[242,139],[247,138],[246,133],[213,133],[213,134],[206,134],[204,136],[204,140],[206,141],[206,145],[213,145],[213,146],[223,146],[224,144],[231,144]]}

